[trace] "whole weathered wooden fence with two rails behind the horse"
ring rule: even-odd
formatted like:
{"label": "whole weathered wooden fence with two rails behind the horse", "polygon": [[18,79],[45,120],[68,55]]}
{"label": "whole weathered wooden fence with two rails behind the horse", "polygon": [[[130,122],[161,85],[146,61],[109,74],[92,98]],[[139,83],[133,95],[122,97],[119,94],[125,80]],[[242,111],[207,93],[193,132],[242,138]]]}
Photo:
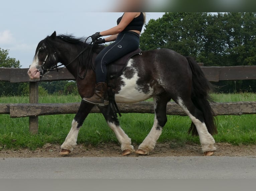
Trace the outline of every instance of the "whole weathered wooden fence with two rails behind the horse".
{"label": "whole weathered wooden fence with two rails behind the horse", "polygon": [[[222,80],[254,80],[256,66],[236,67],[201,67],[210,82]],[[0,114],[10,114],[10,117],[29,117],[29,130],[37,132],[38,116],[52,114],[76,113],[80,103],[38,103],[38,80],[29,80],[28,69],[0,68],[0,81],[11,83],[29,82],[29,103],[0,104]],[[42,81],[75,80],[67,69],[45,74]],[[211,103],[216,115],[256,114],[256,101]],[[118,103],[121,113],[154,113],[153,103],[142,101],[139,103]],[[91,112],[100,112],[94,107]],[[168,115],[185,115],[183,110],[174,102],[167,104]]]}

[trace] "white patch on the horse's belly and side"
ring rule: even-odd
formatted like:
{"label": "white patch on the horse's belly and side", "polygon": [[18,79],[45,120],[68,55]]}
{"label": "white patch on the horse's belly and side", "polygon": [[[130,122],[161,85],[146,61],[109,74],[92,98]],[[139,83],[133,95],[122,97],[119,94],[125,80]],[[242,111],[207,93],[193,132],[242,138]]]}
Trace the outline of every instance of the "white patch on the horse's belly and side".
{"label": "white patch on the horse's belly and side", "polygon": [[[130,59],[127,63],[127,67],[132,67],[133,59]],[[116,102],[123,103],[134,103],[143,101],[151,97],[153,93],[153,88],[149,88],[149,93],[145,94],[139,91],[140,88],[137,85],[137,80],[139,79],[138,71],[134,69],[134,75],[132,78],[128,79],[124,75],[121,75],[124,86],[121,86],[121,90],[115,95]],[[149,86],[149,85],[148,85]]]}

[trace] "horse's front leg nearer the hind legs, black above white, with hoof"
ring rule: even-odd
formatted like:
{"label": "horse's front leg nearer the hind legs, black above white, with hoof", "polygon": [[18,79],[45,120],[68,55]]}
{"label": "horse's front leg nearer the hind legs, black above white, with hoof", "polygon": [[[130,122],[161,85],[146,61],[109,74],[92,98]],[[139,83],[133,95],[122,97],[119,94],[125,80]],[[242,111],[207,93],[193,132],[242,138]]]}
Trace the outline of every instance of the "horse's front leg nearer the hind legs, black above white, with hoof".
{"label": "horse's front leg nearer the hind legs, black above white, with hoof", "polygon": [[110,113],[107,114],[108,106],[98,106],[102,114],[104,115],[109,127],[115,133],[117,140],[121,144],[122,155],[128,155],[135,150],[131,145],[131,139],[128,135],[124,132],[124,130],[119,125],[119,120],[114,116],[113,110],[110,110]]}

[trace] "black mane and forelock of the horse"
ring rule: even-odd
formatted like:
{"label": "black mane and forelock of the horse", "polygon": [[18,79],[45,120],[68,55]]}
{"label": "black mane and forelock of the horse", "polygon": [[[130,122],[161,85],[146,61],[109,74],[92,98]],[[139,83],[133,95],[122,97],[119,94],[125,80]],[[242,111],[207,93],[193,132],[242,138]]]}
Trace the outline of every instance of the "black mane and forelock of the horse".
{"label": "black mane and forelock of the horse", "polygon": [[[66,42],[68,44],[74,45],[78,50],[78,54],[84,48],[88,47],[87,50],[82,55],[79,56],[79,64],[83,65],[87,69],[92,68],[92,59],[93,59],[94,53],[99,54],[100,51],[105,47],[103,45],[86,43],[85,42],[85,39],[86,39],[85,37],[75,38],[72,34],[67,34],[67,35],[61,34],[61,35],[56,36],[56,39],[58,41],[63,41],[63,42]],[[56,52],[55,50],[57,48],[54,47],[55,46],[54,42],[56,42],[56,39],[52,39],[50,36],[47,36],[44,40],[42,40],[38,44],[38,46],[36,48],[36,52],[37,52],[37,49],[41,46],[42,43],[45,44],[45,46],[47,47],[49,52]]]}

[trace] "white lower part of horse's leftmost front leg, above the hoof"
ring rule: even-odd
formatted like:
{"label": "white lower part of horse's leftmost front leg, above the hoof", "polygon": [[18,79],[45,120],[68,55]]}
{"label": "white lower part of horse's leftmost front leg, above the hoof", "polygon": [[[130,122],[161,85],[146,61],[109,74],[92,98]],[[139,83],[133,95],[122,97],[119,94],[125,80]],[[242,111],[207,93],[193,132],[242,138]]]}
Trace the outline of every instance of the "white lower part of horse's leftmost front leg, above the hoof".
{"label": "white lower part of horse's leftmost front leg, above the hoof", "polygon": [[78,122],[75,119],[73,119],[70,132],[67,135],[63,144],[61,145],[62,149],[68,149],[70,151],[73,151],[74,147],[77,145],[77,137],[80,129],[80,128],[77,128],[77,125],[78,125]]}

